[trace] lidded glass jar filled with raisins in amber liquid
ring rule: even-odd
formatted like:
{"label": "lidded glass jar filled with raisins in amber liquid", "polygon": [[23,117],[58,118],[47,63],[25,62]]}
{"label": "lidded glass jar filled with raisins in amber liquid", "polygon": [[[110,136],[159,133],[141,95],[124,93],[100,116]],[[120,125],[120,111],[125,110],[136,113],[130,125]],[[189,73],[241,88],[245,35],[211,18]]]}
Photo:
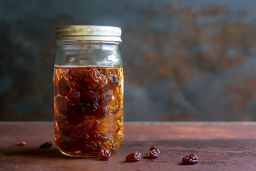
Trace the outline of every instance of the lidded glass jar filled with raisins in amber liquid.
{"label": "lidded glass jar filled with raisins in amber liquid", "polygon": [[109,26],[57,28],[55,143],[61,153],[96,157],[112,153],[123,139],[121,29]]}

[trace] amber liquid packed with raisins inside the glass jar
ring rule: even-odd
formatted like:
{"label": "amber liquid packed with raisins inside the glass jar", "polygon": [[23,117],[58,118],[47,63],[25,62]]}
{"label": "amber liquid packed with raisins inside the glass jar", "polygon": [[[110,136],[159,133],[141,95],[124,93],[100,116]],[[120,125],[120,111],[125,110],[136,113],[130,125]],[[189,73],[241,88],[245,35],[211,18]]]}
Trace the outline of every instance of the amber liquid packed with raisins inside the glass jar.
{"label": "amber liquid packed with raisins inside the glass jar", "polygon": [[55,143],[70,156],[113,153],[123,138],[122,67],[55,66]]}

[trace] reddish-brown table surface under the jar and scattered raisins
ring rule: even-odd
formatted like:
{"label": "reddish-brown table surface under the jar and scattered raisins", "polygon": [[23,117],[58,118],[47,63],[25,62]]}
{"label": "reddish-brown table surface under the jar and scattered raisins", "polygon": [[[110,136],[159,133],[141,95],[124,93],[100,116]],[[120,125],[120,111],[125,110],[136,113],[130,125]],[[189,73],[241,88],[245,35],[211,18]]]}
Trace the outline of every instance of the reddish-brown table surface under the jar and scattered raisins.
{"label": "reddish-brown table surface under the jar and scattered raisins", "polygon": [[[255,124],[165,123],[125,125],[120,150],[109,161],[98,158],[71,158],[55,145],[53,126],[45,124],[0,124],[0,170],[256,170]],[[15,146],[25,141],[26,146]],[[127,163],[133,151],[145,154],[150,146],[159,147],[157,159]],[[184,154],[195,153],[196,165],[182,165]]]}

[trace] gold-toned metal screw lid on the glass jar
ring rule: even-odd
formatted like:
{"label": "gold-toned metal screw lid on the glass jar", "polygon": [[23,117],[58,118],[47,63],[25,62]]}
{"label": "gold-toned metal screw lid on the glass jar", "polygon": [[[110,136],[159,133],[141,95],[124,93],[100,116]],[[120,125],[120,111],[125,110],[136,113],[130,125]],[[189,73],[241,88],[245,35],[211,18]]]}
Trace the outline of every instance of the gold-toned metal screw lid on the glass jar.
{"label": "gold-toned metal screw lid on the glass jar", "polygon": [[72,25],[56,28],[57,40],[122,42],[121,28],[112,26]]}

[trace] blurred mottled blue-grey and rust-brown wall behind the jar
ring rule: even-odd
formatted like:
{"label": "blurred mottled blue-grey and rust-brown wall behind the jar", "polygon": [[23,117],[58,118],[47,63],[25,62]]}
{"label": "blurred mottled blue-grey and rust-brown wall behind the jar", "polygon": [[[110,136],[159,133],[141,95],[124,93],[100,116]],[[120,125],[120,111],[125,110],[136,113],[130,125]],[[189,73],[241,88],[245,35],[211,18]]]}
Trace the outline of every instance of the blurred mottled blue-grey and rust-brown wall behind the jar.
{"label": "blurred mottled blue-grey and rust-brown wall behind the jar", "polygon": [[256,1],[0,1],[0,120],[52,120],[55,28],[122,28],[125,120],[256,121]]}

